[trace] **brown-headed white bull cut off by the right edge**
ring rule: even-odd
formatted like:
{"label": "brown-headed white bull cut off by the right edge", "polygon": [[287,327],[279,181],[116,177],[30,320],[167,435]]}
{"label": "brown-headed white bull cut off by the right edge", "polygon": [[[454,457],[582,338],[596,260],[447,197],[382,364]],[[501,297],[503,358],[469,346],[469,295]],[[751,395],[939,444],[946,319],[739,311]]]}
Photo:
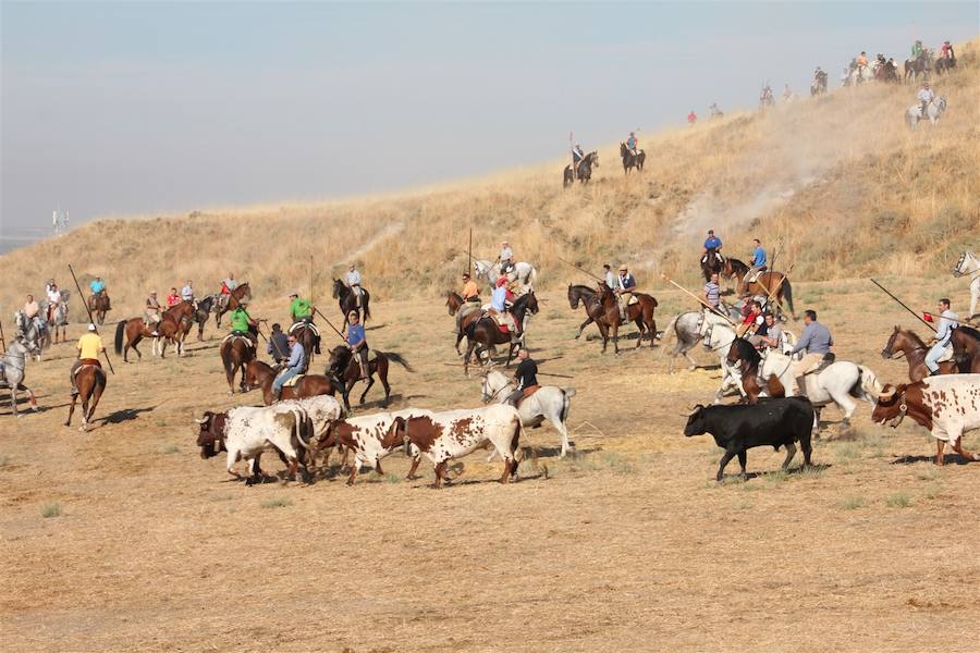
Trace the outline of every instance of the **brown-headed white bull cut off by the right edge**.
{"label": "brown-headed white bull cut off by the right edge", "polygon": [[980,456],[963,448],[963,434],[980,429],[980,374],[929,377],[918,383],[885,385],[871,419],[897,427],[908,416],[936,440],[936,465],[944,465],[946,443],[967,460]]}

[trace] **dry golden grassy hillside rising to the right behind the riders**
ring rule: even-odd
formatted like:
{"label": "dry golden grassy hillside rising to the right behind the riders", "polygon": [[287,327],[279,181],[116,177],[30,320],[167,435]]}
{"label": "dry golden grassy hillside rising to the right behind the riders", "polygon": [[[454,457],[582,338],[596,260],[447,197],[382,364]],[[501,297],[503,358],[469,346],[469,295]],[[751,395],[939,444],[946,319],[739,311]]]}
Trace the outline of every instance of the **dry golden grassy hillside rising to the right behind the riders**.
{"label": "dry golden grassy hillside rising to the right behind the riders", "polygon": [[754,236],[770,252],[781,241],[776,267],[793,263],[795,279],[946,273],[980,245],[978,50],[963,46],[959,70],[934,79],[948,100],[935,130],[905,125],[915,87],[867,85],[645,138],[641,175],[624,177],[617,146],[603,147],[586,188],[563,190],[553,161],[390,197],[99,220],[0,257],[0,305],[64,283],[69,262],[83,283],[108,279],[117,318],[149,288],[193,279],[212,292],[230,270],[266,297],[307,293],[310,257],[318,298],[351,259],[380,297],[433,294],[466,267],[470,227],[475,256],[506,237],[546,287],[587,281],[560,257],[628,262],[654,293],[660,272],[693,282],[709,226],[740,257]]}

